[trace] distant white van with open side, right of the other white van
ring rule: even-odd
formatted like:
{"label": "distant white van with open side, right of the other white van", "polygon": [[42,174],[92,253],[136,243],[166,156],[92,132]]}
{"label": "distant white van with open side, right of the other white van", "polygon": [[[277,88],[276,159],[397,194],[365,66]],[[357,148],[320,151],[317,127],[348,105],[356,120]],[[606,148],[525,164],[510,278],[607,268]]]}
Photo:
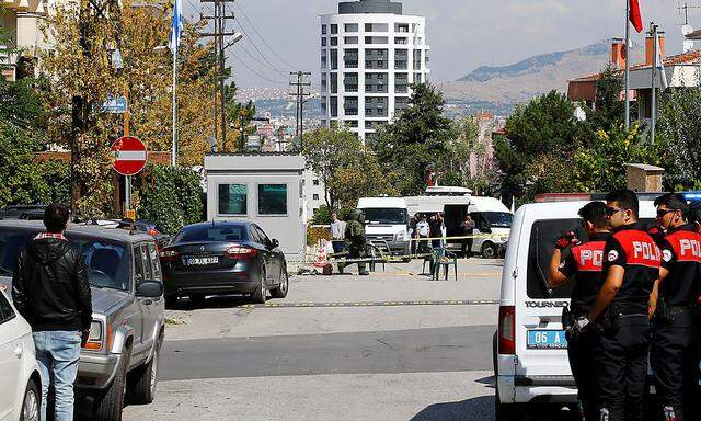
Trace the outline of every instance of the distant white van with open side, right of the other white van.
{"label": "distant white van with open side, right of the other white van", "polygon": [[[472,252],[485,258],[496,258],[498,250],[508,240],[513,215],[498,198],[471,196],[470,194],[432,194],[427,191],[423,196],[406,197],[406,205],[411,216],[441,212],[447,237],[461,236],[460,224],[464,220],[466,215],[470,214],[475,223],[474,235],[489,236],[489,238],[475,238],[472,242]],[[460,249],[460,241],[449,241],[448,244],[453,249]]]}

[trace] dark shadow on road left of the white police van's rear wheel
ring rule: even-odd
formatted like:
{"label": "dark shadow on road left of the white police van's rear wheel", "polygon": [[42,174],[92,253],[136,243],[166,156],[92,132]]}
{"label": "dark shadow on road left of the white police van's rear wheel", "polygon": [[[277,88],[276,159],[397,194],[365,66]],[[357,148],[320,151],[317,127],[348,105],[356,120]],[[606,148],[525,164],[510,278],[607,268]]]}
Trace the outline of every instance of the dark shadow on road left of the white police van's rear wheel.
{"label": "dark shadow on road left of the white police van's rear wheel", "polygon": [[494,419],[494,397],[480,396],[459,402],[434,403],[415,414],[411,421],[471,421]]}

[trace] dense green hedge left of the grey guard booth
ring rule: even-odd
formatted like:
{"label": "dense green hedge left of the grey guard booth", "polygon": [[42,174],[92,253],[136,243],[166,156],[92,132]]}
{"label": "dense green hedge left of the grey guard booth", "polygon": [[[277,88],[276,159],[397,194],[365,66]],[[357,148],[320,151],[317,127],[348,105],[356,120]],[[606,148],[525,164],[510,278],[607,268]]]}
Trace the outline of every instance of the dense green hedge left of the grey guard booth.
{"label": "dense green hedge left of the grey guard booth", "polygon": [[150,219],[170,235],[183,226],[200,223],[204,214],[199,175],[188,169],[152,166],[138,178],[137,215]]}

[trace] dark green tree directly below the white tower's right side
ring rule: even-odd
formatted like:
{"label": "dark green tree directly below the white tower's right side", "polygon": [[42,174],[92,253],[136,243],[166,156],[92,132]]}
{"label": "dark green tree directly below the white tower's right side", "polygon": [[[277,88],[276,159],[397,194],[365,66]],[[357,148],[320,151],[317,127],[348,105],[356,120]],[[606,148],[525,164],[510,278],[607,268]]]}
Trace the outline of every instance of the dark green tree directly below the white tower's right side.
{"label": "dark green tree directly below the white tower's right side", "polygon": [[451,161],[452,122],[443,115],[444,99],[435,87],[413,84],[410,106],[381,127],[372,145],[384,173],[393,174],[402,195],[423,193],[427,170]]}

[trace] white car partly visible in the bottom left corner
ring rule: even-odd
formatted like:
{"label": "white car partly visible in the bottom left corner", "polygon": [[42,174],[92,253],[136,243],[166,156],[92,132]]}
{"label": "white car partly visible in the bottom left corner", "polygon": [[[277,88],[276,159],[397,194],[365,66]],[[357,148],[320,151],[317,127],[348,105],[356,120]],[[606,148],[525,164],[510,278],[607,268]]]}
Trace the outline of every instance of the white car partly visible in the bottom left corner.
{"label": "white car partly visible in the bottom left corner", "polygon": [[38,421],[42,377],[36,364],[32,328],[2,291],[0,379],[0,420]]}

